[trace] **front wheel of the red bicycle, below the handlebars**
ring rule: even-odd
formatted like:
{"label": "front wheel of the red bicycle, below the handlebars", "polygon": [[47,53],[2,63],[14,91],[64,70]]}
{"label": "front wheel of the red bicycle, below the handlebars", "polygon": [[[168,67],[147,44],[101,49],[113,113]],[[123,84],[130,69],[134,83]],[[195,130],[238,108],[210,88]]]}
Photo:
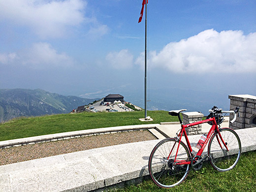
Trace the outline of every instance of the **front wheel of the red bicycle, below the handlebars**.
{"label": "front wheel of the red bicycle, below the handlebars", "polygon": [[220,129],[220,133],[216,132],[212,136],[208,146],[208,156],[211,157],[210,163],[216,170],[224,172],[234,168],[240,155],[241,141],[233,129],[223,128]]}

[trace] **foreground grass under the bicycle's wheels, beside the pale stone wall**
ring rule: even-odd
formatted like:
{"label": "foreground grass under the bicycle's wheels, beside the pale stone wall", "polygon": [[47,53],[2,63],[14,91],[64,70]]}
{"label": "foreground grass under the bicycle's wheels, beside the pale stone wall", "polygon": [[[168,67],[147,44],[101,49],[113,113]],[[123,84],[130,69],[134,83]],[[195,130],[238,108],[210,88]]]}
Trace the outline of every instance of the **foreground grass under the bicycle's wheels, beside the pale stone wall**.
{"label": "foreground grass under the bicycle's wheels, beside the pale stone wall", "polygon": [[256,192],[256,151],[243,153],[230,171],[218,172],[209,162],[199,171],[190,171],[179,186],[161,189],[151,179],[111,192]]}

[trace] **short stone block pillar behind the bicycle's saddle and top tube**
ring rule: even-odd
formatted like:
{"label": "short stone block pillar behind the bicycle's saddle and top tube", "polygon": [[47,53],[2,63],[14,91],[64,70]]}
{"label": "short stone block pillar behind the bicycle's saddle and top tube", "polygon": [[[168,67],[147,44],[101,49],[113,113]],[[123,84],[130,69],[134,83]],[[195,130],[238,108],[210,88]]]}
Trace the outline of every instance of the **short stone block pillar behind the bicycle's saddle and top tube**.
{"label": "short stone block pillar behind the bicycle's saddle and top tube", "polygon": [[[201,121],[203,114],[198,112],[184,112],[183,116],[183,124],[191,124],[197,121]],[[202,125],[192,126],[189,128],[185,128],[188,135],[195,135],[202,133]]]}

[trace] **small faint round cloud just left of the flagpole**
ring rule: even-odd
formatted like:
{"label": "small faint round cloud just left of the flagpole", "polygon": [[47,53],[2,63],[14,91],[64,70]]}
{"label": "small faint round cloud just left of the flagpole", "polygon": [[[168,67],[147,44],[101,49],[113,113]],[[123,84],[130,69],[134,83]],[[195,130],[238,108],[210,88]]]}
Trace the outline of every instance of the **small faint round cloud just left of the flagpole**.
{"label": "small faint round cloud just left of the flagpole", "polygon": [[117,69],[130,68],[133,64],[133,55],[127,49],[119,52],[110,52],[106,56],[106,60],[112,67]]}

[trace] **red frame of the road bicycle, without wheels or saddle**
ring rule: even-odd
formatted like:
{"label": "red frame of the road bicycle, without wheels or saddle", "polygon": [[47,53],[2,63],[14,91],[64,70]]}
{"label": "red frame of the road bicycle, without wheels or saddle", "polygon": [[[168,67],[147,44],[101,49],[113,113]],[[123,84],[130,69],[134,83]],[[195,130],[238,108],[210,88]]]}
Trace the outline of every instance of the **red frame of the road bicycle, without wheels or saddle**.
{"label": "red frame of the road bicycle, without wheels or saddle", "polygon": [[[192,127],[192,126],[196,126],[196,125],[204,124],[204,123],[208,123],[208,122],[213,122],[213,125],[212,125],[211,129],[209,130],[209,132],[208,132],[208,134],[207,134],[207,137],[206,137],[206,140],[205,140],[205,142],[204,142],[204,145],[203,145],[202,148],[199,149],[199,151],[196,153],[196,156],[201,156],[201,155],[202,155],[204,148],[206,147],[206,145],[207,145],[207,143],[209,142],[209,140],[210,140],[212,134],[213,134],[215,131],[217,131],[217,132],[219,133],[220,139],[219,139],[219,137],[217,136],[218,143],[220,144],[221,147],[222,147],[222,144],[221,144],[221,143],[223,143],[224,147],[225,147],[226,150],[228,151],[227,146],[226,146],[226,144],[224,143],[224,140],[223,140],[223,138],[222,138],[222,136],[221,136],[221,134],[220,134],[220,130],[219,130],[219,128],[218,128],[218,125],[217,125],[217,123],[216,123],[214,117],[213,117],[213,118],[210,118],[210,119],[198,121],[198,122],[195,122],[195,123],[187,124],[187,125],[183,125],[183,123],[182,123],[182,124],[181,124],[181,131],[180,131],[180,133],[178,134],[179,145],[178,145],[177,152],[176,152],[175,159],[174,159],[174,162],[177,162],[176,164],[179,164],[179,165],[182,165],[182,164],[191,164],[191,160],[190,160],[190,161],[188,161],[188,160],[176,161],[176,159],[177,159],[177,154],[178,154],[178,151],[179,151],[180,142],[181,142],[181,138],[182,138],[183,134],[185,135],[185,139],[186,139],[187,146],[188,146],[188,148],[189,148],[190,154],[193,156],[192,147],[191,147],[191,144],[190,144],[190,141],[189,141],[189,138],[188,138],[188,135],[187,135],[187,133],[186,133],[185,128],[189,128],[189,127]],[[175,146],[175,145],[174,145],[174,146]],[[173,148],[174,148],[174,146],[173,146]],[[173,148],[172,148],[172,150],[173,150]],[[169,157],[170,157],[170,155],[171,155],[171,153],[172,153],[172,150],[170,151],[170,154],[169,154],[167,160],[169,159]]]}

